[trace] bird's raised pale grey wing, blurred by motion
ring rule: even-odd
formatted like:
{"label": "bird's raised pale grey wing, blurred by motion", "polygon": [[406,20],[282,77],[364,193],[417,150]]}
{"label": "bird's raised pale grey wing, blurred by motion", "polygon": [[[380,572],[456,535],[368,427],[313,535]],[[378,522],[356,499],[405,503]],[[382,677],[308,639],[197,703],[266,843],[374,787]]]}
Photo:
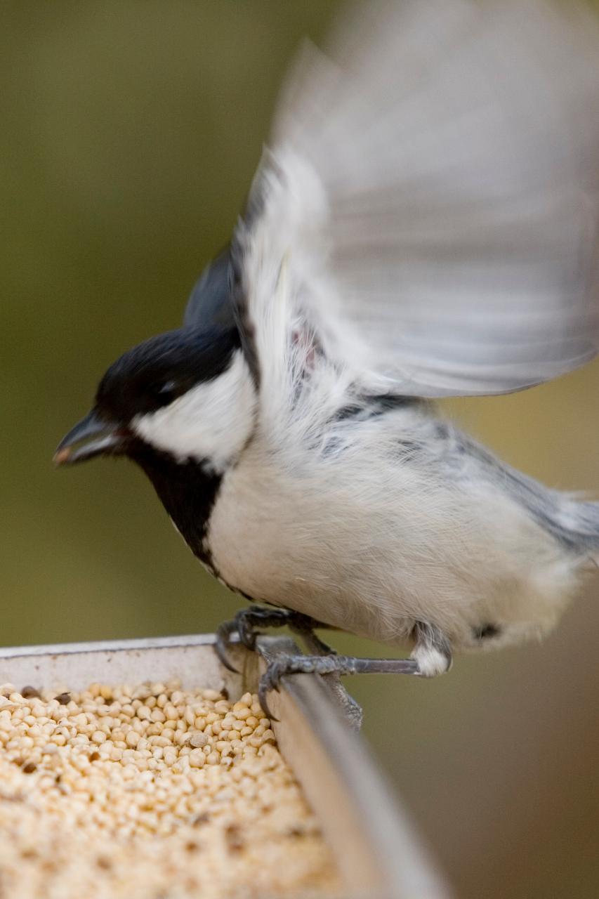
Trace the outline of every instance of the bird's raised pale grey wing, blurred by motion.
{"label": "bird's raised pale grey wing, blurred by motion", "polygon": [[504,393],[590,360],[598,34],[577,0],[381,0],[307,46],[234,243],[258,366],[282,280],[291,326],[378,388]]}

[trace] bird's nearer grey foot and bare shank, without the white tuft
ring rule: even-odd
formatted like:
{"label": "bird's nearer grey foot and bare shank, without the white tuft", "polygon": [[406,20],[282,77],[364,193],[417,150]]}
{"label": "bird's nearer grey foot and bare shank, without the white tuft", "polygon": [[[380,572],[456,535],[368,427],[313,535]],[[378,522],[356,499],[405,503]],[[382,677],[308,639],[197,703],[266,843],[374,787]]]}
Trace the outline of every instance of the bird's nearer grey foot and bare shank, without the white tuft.
{"label": "bird's nearer grey foot and bare shank, without the white tuft", "polygon": [[268,665],[260,679],[258,699],[264,714],[276,721],[266,700],[270,690],[279,690],[287,674],[421,674],[416,659],[361,659],[352,655],[285,655]]}

